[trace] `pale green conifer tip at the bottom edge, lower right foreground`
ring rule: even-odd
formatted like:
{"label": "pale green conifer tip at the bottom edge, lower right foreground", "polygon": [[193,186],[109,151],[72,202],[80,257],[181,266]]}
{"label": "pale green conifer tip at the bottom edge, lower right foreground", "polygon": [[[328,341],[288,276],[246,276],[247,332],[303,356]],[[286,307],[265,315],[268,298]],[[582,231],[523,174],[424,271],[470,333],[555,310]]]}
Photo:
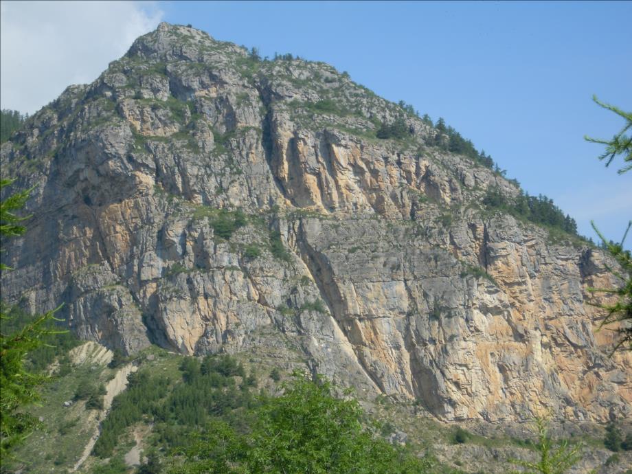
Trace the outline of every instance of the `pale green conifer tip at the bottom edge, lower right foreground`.
{"label": "pale green conifer tip at the bottom edge, lower right foreground", "polygon": [[[548,434],[548,425],[544,418],[536,418],[534,421],[537,433],[537,442],[534,444],[540,460],[528,462],[521,460],[509,460],[515,466],[521,466],[527,471],[521,474],[564,474],[581,459],[581,447],[570,447],[567,441],[556,444]],[[512,471],[516,472],[516,471]]]}

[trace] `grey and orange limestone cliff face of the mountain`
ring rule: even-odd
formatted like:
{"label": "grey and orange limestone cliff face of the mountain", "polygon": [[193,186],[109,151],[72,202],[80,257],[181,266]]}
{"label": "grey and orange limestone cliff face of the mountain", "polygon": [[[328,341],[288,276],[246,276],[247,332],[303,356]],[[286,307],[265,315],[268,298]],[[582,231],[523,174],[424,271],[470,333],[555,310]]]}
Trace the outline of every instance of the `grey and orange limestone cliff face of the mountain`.
{"label": "grey and orange limestone cliff face of the mountain", "polygon": [[376,139],[400,112],[162,23],[2,146],[35,186],[3,297],[63,302],[109,348],[249,351],[445,420],[631,415],[632,358],[586,303],[602,253],[484,209],[518,188],[418,118]]}

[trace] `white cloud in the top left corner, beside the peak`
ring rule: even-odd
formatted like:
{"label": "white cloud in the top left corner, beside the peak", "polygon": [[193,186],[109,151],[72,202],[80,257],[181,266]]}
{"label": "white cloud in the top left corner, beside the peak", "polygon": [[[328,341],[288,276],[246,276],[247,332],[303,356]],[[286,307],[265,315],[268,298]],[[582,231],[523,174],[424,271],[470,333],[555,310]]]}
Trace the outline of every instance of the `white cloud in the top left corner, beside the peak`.
{"label": "white cloud in the top left corner, beside the peak", "polygon": [[0,1],[0,106],[34,113],[159,23],[153,2]]}

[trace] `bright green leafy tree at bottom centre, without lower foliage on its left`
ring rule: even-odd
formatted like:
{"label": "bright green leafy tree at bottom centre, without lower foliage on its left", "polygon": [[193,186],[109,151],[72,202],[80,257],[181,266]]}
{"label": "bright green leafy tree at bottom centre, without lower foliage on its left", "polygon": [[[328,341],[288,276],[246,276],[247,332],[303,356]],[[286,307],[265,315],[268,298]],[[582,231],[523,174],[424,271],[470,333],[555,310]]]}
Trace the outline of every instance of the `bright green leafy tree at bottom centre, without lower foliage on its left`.
{"label": "bright green leafy tree at bottom centre, without lower foliage on its left", "polygon": [[340,400],[325,381],[297,376],[258,411],[246,463],[266,472],[414,472],[419,466],[362,425],[356,400]]}

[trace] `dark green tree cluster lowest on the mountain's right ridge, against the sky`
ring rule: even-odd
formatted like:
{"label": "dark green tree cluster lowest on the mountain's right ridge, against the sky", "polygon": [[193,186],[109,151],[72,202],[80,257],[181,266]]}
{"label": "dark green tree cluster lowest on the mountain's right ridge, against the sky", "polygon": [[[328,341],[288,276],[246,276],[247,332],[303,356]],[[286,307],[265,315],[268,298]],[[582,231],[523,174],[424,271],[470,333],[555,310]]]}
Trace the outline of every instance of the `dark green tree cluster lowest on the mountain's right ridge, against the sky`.
{"label": "dark green tree cluster lowest on the mountain's right ridge, against the sky", "polygon": [[535,224],[561,229],[573,236],[577,235],[577,223],[568,214],[554,205],[547,196],[529,196],[519,194],[515,198],[507,198],[498,188],[490,187],[482,203],[492,209],[501,210],[512,216],[526,219]]}

